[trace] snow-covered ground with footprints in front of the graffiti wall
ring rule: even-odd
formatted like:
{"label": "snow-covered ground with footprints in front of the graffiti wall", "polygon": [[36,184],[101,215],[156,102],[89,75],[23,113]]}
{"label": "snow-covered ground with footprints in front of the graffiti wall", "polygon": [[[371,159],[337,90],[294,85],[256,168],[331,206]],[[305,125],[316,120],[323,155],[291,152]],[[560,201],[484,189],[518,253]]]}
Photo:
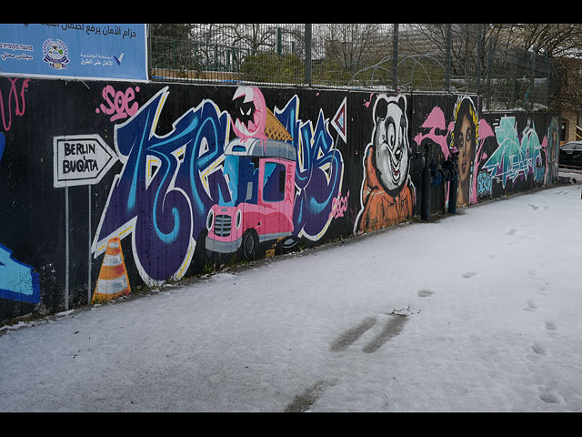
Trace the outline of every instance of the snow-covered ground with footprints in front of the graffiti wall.
{"label": "snow-covered ground with footprints in front of the graffiti wall", "polygon": [[582,412],[580,185],[5,328],[1,412]]}

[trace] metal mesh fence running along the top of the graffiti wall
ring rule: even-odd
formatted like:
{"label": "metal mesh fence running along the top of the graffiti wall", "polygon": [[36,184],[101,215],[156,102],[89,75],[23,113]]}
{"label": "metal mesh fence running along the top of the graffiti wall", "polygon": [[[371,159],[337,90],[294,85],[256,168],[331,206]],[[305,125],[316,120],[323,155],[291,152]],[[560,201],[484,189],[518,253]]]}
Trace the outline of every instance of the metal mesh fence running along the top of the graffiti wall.
{"label": "metal mesh fence running along the top of the graffiti wall", "polygon": [[163,26],[150,25],[152,80],[476,93],[492,110],[549,107],[559,84],[547,56],[492,25]]}

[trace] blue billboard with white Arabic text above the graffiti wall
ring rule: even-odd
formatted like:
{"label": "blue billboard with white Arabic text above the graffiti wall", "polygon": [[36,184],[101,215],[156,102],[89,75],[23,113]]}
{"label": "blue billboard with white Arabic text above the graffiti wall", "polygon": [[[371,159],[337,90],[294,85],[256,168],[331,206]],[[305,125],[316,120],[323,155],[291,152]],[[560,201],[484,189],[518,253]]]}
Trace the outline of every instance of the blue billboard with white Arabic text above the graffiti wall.
{"label": "blue billboard with white Arabic text above the graffiti wall", "polygon": [[145,24],[0,24],[0,74],[147,80]]}

